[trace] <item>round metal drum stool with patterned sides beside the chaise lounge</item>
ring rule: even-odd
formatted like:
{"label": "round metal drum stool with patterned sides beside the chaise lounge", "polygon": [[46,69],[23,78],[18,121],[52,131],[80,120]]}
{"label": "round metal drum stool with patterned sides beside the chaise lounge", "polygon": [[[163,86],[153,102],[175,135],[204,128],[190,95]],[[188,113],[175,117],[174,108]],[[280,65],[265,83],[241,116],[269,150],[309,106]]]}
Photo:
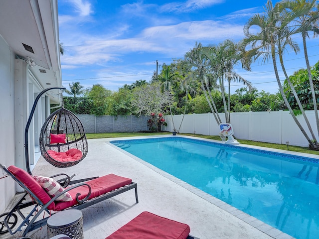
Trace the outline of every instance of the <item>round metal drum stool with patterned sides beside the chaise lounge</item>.
{"label": "round metal drum stool with patterned sides beside the chaise lounge", "polygon": [[48,238],[64,234],[71,239],[83,239],[82,212],[70,209],[58,212],[47,220]]}

